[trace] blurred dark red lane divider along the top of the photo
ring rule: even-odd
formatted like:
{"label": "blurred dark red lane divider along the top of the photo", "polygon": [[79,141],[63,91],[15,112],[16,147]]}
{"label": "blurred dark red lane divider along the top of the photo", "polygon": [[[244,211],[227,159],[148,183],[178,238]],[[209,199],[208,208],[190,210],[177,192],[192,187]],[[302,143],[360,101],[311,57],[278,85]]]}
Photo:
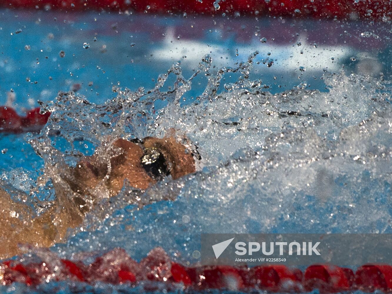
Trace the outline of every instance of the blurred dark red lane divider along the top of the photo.
{"label": "blurred dark red lane divider along the top of the photo", "polygon": [[220,8],[215,10],[214,0],[4,0],[3,7],[33,9],[87,10],[131,9],[138,12],[151,13],[243,13],[253,15],[295,15],[334,18],[364,17],[379,19],[391,16],[392,8],[389,0],[225,0],[218,2]]}

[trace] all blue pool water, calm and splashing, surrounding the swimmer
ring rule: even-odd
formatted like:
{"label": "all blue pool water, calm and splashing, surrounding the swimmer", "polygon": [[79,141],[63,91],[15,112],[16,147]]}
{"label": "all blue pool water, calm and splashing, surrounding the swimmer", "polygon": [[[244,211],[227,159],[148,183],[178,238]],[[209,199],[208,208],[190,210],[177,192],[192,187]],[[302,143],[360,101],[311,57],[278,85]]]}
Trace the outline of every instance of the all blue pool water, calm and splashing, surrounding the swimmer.
{"label": "all blue pool water, calm and splashing, surrounding the swimmer", "polygon": [[[5,183],[29,192],[107,136],[174,128],[202,158],[196,174],[102,200],[51,248],[59,256],[91,262],[121,247],[139,261],[159,246],[191,265],[201,232],[392,232],[390,22],[0,15],[1,104],[52,112],[40,134],[0,135]],[[50,201],[50,188],[34,196]],[[76,288],[33,291],[140,290]]]}

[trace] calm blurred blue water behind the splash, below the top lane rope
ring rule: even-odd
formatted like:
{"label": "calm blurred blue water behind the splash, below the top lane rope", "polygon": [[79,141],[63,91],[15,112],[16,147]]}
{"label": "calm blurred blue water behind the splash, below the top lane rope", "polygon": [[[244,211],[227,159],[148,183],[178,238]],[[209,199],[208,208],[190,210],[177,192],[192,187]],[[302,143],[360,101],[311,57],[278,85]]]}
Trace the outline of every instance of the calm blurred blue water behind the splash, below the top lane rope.
{"label": "calm blurred blue water behind the splash, below the top lane rope", "polygon": [[[5,103],[13,89],[20,107],[27,107],[29,98],[32,104],[53,99],[74,83],[82,84],[79,93],[89,101],[102,103],[115,96],[111,87],[118,83],[132,90],[152,88],[153,79],[174,62],[181,62],[189,77],[205,54],[221,67],[259,51],[257,60],[274,62],[254,67],[271,93],[304,81],[322,91],[324,68],[337,71],[344,65],[348,72],[391,73],[390,27],[384,23],[2,10],[0,36],[0,101]],[[187,96],[205,88],[192,86]]]}

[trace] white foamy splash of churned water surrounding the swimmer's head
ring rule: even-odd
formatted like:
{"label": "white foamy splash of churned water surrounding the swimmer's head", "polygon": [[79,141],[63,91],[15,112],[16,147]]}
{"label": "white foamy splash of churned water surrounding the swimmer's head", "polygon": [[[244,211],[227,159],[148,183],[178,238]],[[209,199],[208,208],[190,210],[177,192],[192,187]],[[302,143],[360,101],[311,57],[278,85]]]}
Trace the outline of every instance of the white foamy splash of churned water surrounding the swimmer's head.
{"label": "white foamy splash of churned water surrounding the swimmer's head", "polygon": [[[195,174],[147,191],[125,185],[110,199],[99,193],[83,230],[56,245],[60,256],[122,247],[138,259],[161,246],[195,263],[200,232],[392,231],[391,82],[341,71],[323,76],[328,92],[299,86],[270,94],[250,79],[257,54],[218,71],[205,56],[189,79],[174,64],[153,89],[114,87],[116,98],[102,105],[74,93],[42,105],[53,114],[29,142],[45,161],[42,189],[33,194],[46,193],[49,203],[54,181],[64,190],[55,197],[71,191],[59,177],[66,166],[102,142],[110,148],[113,138],[175,129],[201,156]],[[240,78],[221,85],[227,73]],[[200,74],[208,78],[205,90],[184,103]],[[163,91],[170,75],[175,82]]]}

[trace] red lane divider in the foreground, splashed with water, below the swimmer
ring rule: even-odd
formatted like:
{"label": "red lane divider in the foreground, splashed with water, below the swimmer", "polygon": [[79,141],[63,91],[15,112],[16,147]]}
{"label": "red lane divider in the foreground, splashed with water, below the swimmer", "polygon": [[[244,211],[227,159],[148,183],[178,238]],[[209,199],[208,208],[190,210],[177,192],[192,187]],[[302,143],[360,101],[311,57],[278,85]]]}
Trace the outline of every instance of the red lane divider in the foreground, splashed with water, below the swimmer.
{"label": "red lane divider in the foreground, splashed with water, below the swimmer", "polygon": [[[41,254],[41,256],[45,256]],[[392,266],[368,264],[359,267],[354,274],[351,269],[332,265],[311,265],[305,273],[285,265],[246,266],[196,266],[185,267],[170,260],[162,248],[151,250],[140,263],[123,249],[114,249],[86,265],[81,261],[70,261],[51,257],[46,261],[0,263],[0,284],[24,283],[38,285],[44,281],[81,281],[94,284],[98,281],[119,284],[138,281],[160,281],[168,289],[175,284],[198,290],[261,289],[268,292],[310,292],[318,289],[321,293],[362,290],[371,292],[392,291]],[[154,284],[143,284],[153,290]],[[178,286],[177,286],[178,289]]]}

